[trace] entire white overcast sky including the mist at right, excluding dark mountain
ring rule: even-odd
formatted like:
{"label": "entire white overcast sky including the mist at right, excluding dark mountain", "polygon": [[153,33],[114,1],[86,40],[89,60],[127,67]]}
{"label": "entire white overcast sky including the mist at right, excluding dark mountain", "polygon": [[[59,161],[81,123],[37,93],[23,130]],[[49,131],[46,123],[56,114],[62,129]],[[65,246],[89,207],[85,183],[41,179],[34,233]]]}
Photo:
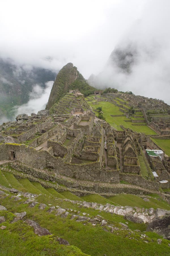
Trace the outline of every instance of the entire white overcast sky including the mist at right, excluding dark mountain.
{"label": "entire white overcast sky including the mist at right, excluding dark mountain", "polygon": [[[161,82],[163,90],[170,88],[169,13],[169,0],[5,0],[1,1],[0,55],[55,70],[72,62],[88,79],[103,70],[115,46],[132,40],[142,56],[128,83],[124,78],[118,84],[133,90],[145,77],[144,92],[139,83],[135,93],[147,96],[148,85],[154,90],[159,80],[153,96],[159,98]],[[163,93],[161,97],[168,98]]]}

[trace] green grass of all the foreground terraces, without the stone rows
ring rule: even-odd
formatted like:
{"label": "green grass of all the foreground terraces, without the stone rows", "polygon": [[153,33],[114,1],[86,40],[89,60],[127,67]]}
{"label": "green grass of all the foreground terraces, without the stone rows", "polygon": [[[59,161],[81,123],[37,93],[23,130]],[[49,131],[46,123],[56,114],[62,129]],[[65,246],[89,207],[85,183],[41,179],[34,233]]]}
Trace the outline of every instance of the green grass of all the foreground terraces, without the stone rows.
{"label": "green grass of all the foreground terraces, without the stone rows", "polygon": [[[9,174],[9,175],[8,175]],[[3,177],[3,178],[2,178]],[[4,178],[5,177],[5,178]],[[7,211],[1,211],[0,214],[5,216],[6,221],[0,224],[7,228],[0,232],[0,255],[69,255],[79,256],[84,255],[169,255],[169,241],[164,240],[152,232],[146,232],[147,224],[138,224],[128,221],[128,227],[133,231],[122,229],[121,223],[126,223],[124,216],[111,214],[93,208],[80,207],[69,201],[63,200],[68,198],[71,200],[86,200],[101,204],[111,203],[114,205],[129,205],[144,208],[163,208],[170,210],[167,202],[163,201],[159,195],[151,194],[148,197],[150,202],[145,202],[143,198],[130,194],[120,194],[109,198],[101,197],[100,195],[87,195],[77,197],[69,191],[57,192],[53,188],[45,189],[37,182],[31,182],[27,179],[16,179],[11,173],[5,171],[0,172],[0,184],[12,185],[16,189],[22,188],[23,191],[41,193],[36,197],[36,201],[46,204],[44,210],[39,209],[39,204],[35,207],[29,207],[25,204],[26,198],[20,197],[19,201],[11,198],[13,195],[8,191],[8,195],[0,197],[0,205],[4,205]],[[147,197],[147,196],[146,196]],[[61,215],[56,215],[56,212],[49,213],[47,210],[50,205],[58,206],[67,209],[69,215],[63,218]],[[26,216],[22,221],[10,223],[14,218],[15,212],[26,211]],[[113,224],[118,227],[118,230],[107,232],[107,227],[97,224],[93,226],[87,221],[77,222],[76,218],[71,219],[71,214],[79,214],[80,216],[87,215],[94,218],[100,215],[107,221],[108,224]],[[0,216],[1,216],[0,215]],[[28,226],[23,221],[31,219],[39,223],[41,227],[47,228],[52,236],[37,236],[33,232],[33,228]],[[141,232],[136,232],[140,230]],[[147,243],[141,239],[141,234],[147,235]],[[133,236],[134,239],[131,239]],[[61,237],[70,243],[70,246],[59,245],[57,237]],[[130,238],[130,239],[129,239]],[[162,243],[159,245],[157,239],[161,238]]]}

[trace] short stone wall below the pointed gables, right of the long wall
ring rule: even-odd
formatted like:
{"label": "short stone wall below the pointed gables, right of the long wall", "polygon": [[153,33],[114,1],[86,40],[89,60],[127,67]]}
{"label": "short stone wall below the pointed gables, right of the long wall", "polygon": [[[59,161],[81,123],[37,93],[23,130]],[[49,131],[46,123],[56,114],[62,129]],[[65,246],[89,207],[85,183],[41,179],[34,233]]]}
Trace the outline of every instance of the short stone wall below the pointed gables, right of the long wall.
{"label": "short stone wall below the pointed gables, right of the long wall", "polygon": [[120,173],[120,180],[124,180],[131,184],[145,187],[147,189],[156,189],[156,190],[159,189],[158,182],[148,181],[148,180],[144,179],[141,175]]}

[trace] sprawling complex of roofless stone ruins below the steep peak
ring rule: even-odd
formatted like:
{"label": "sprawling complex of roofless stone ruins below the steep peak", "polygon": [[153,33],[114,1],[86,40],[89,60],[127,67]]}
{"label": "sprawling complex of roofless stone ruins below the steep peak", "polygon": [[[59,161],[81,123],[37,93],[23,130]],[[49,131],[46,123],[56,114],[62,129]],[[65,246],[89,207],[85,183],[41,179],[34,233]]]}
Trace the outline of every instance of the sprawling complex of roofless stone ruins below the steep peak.
{"label": "sprawling complex of roofless stone ruins below the steep peak", "polygon": [[[147,105],[143,98],[128,97],[129,102]],[[169,158],[161,161],[142,155],[145,148],[154,146],[147,136],[124,127],[115,130],[95,117],[76,91],[67,93],[55,109],[55,113],[42,110],[31,116],[18,115],[17,121],[1,125],[0,160],[15,160],[42,172],[93,182],[123,180],[147,189],[157,190],[159,185],[169,188]],[[139,155],[146,161],[148,179],[141,174]],[[154,180],[152,171],[158,174]],[[166,185],[160,182],[163,179]]]}

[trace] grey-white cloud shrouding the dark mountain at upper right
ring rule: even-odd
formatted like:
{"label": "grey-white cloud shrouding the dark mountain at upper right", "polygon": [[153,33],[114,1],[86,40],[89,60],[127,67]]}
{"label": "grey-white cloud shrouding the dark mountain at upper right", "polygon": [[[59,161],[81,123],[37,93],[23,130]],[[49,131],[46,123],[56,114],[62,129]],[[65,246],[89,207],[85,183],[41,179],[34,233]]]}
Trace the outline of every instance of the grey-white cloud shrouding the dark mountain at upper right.
{"label": "grey-white cloud shrouding the dark mountain at upper right", "polygon": [[170,104],[169,1],[149,1],[140,20],[117,43],[95,84]]}

